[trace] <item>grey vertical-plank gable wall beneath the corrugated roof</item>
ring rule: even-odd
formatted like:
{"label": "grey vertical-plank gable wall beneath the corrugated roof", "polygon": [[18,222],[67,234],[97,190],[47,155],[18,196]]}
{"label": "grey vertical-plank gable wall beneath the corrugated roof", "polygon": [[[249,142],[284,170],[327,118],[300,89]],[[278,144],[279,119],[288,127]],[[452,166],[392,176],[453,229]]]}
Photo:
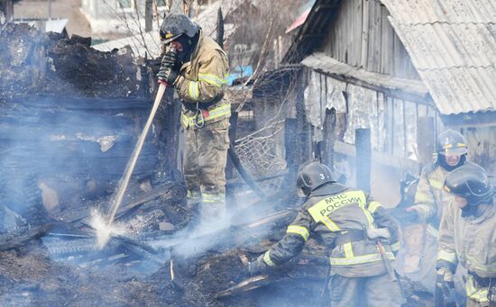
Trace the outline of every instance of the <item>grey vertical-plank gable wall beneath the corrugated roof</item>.
{"label": "grey vertical-plank gable wall beneath the corrugated roof", "polygon": [[355,68],[420,79],[380,0],[346,0],[337,10],[316,50]]}

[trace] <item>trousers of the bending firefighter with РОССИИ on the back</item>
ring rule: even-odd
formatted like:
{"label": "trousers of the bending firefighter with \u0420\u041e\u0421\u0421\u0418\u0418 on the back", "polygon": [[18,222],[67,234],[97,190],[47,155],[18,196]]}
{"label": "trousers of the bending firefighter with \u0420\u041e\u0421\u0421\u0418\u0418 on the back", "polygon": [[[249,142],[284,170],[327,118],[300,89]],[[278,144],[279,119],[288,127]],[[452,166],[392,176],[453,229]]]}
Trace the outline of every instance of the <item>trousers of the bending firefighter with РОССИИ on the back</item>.
{"label": "trousers of the bending firefighter with \u0420\u041e\u0421\u0421\u0418\u0418 on the back", "polygon": [[344,277],[332,275],[329,283],[332,307],[398,307],[403,296],[390,275]]}

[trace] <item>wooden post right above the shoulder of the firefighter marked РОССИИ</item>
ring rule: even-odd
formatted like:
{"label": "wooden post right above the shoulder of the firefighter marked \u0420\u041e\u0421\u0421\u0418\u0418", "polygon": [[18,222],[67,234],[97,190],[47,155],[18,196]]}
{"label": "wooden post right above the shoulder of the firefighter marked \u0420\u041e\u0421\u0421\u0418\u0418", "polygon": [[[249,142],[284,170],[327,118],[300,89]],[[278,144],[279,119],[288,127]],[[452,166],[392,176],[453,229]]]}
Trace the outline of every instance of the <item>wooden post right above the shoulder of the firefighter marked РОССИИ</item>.
{"label": "wooden post right above the shoulder of the firefighter marked \u0420\u041e\u0421\u0421\u0418\u0418", "polygon": [[371,130],[356,129],[354,131],[356,149],[356,185],[366,193],[371,192]]}

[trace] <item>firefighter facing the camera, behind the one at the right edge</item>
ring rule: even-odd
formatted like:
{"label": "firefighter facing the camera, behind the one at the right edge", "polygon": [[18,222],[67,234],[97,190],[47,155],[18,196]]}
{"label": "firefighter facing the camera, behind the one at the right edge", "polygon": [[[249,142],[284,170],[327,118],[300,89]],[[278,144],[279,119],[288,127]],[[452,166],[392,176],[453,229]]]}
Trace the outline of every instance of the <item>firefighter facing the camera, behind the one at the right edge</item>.
{"label": "firefighter facing the camera, behind the one at the right edge", "polygon": [[[422,169],[418,180],[415,204],[407,211],[414,213],[424,224],[422,248],[418,248],[418,269],[405,272],[410,279],[418,281],[434,293],[436,286],[437,229],[445,207],[453,196],[443,191],[445,177],[467,161],[467,142],[457,131],[447,130],[439,134],[436,142],[436,160]],[[463,282],[460,281],[459,284]]]}

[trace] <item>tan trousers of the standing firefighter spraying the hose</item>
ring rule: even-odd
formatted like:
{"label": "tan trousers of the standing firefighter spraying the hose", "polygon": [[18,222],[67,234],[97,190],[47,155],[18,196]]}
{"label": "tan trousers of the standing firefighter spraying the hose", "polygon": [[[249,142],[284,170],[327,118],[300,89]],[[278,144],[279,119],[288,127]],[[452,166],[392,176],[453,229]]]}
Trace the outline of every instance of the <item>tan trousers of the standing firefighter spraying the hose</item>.
{"label": "tan trousers of the standing firefighter spraying the hose", "polygon": [[185,129],[183,172],[188,207],[201,212],[202,221],[215,221],[225,215],[228,128],[227,118],[200,129]]}

